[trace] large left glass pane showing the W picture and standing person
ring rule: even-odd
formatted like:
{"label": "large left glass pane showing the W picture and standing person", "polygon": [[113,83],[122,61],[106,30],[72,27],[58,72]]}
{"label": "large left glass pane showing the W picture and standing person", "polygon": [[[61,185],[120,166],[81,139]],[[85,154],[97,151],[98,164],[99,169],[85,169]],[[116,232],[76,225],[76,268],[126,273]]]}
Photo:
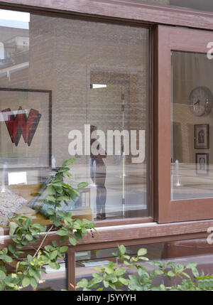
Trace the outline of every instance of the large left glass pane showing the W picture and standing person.
{"label": "large left glass pane showing the W picture and standing person", "polygon": [[0,225],[47,223],[46,186],[73,155],[77,217],[149,215],[148,28],[0,10],[0,37]]}

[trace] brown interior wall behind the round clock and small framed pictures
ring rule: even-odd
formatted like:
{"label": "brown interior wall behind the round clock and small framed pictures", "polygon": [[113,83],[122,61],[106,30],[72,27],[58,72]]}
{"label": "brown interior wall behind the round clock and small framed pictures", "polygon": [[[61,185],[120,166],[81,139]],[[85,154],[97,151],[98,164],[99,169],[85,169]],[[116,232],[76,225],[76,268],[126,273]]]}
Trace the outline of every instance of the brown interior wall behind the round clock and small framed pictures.
{"label": "brown interior wall behind the round clock and small framed pictures", "polygon": [[[196,153],[208,153],[213,163],[213,111],[197,117],[190,109],[190,92],[208,87],[213,92],[213,61],[204,54],[173,52],[173,122],[178,124],[174,142],[182,163],[195,163]],[[195,149],[195,124],[209,124],[209,149]]]}

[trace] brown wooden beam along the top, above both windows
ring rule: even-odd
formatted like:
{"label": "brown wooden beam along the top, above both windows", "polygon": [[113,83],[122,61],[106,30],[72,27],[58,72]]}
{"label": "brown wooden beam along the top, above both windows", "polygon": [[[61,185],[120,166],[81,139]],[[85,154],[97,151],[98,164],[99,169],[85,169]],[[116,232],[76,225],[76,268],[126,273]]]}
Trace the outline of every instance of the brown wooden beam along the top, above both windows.
{"label": "brown wooden beam along the top, above both windows", "polygon": [[213,29],[213,13],[194,9],[146,4],[124,0],[4,0],[5,9],[31,10],[55,13],[119,18],[131,21],[160,23],[173,26]]}

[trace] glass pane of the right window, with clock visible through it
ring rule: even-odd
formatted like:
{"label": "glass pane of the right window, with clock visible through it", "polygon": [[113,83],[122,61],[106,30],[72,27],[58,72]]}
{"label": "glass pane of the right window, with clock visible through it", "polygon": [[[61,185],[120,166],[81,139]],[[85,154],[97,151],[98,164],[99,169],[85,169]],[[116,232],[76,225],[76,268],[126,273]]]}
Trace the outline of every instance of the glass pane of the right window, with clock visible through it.
{"label": "glass pane of the right window, with clock visible through it", "polygon": [[213,61],[172,52],[171,198],[213,197]]}

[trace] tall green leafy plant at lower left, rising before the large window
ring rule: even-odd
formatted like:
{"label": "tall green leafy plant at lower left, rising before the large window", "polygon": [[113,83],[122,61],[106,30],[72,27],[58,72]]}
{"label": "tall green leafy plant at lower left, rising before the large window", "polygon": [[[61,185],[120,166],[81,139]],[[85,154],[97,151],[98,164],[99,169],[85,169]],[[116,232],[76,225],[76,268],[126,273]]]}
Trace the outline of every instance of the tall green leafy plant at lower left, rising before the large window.
{"label": "tall green leafy plant at lower left, rising before the large window", "polygon": [[[58,259],[63,259],[68,247],[58,245],[55,240],[51,245],[45,245],[51,230],[56,230],[60,242],[65,242],[68,238],[70,244],[75,246],[77,240],[82,239],[82,235],[87,235],[88,229],[94,228],[94,223],[89,220],[73,218],[71,213],[59,210],[62,202],[68,204],[68,200],[75,200],[80,196],[79,190],[87,186],[87,183],[83,182],[79,183],[77,188],[73,188],[70,184],[64,183],[65,176],[71,176],[68,166],[74,161],[75,158],[65,161],[62,167],[55,171],[53,180],[48,184],[46,202],[52,206],[48,209],[48,218],[52,223],[50,228],[38,223],[33,224],[31,218],[22,215],[17,215],[9,223],[13,245],[4,247],[0,251],[0,290],[20,290],[30,285],[36,289],[38,282],[41,281],[41,273],[45,273],[44,265],[48,264],[52,269],[60,269]],[[38,243],[38,247],[34,247],[35,242]],[[34,254],[23,257],[24,252],[20,250],[26,245],[31,246]],[[16,270],[8,272],[6,269],[8,264]]]}

